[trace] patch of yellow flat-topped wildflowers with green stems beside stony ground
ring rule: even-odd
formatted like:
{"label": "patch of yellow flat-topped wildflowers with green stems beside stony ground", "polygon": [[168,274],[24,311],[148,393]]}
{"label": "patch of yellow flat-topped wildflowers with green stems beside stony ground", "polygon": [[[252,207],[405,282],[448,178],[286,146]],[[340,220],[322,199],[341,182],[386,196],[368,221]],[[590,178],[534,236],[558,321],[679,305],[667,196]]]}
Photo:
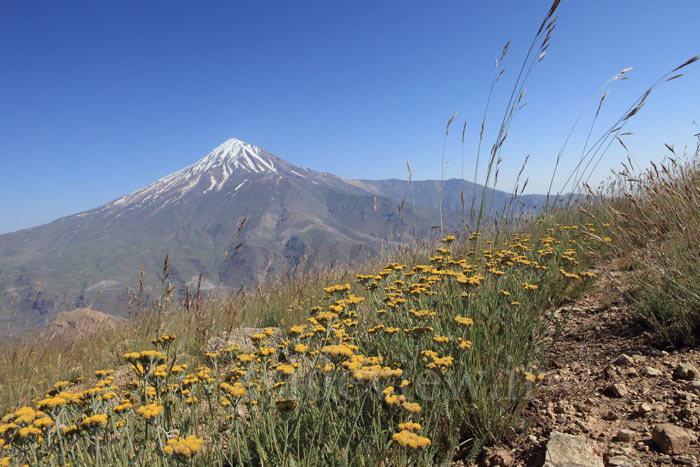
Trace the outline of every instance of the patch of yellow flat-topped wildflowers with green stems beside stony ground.
{"label": "patch of yellow flat-topped wildflowers with green stems beside stony ground", "polygon": [[[57,378],[4,415],[0,467],[35,463],[34,454],[81,465],[105,453],[134,465],[340,463],[347,452],[365,464],[424,465],[460,432],[496,436],[500,422],[478,411],[491,404],[505,419],[519,410],[544,378],[532,338],[543,312],[575,281],[595,278],[585,270],[592,246],[573,227],[498,247],[477,235],[484,247],[461,257],[453,250],[464,251],[462,240],[447,236],[424,264],[390,263],[318,296],[299,293],[282,309],[284,329],[236,344],[181,346],[159,331],[154,349],[120,351],[120,367],[83,380]],[[506,389],[515,397],[497,407],[483,399]],[[456,431],[445,438],[448,417]],[[460,425],[471,420],[483,426]],[[342,440],[336,452],[319,441],[328,430]]]}

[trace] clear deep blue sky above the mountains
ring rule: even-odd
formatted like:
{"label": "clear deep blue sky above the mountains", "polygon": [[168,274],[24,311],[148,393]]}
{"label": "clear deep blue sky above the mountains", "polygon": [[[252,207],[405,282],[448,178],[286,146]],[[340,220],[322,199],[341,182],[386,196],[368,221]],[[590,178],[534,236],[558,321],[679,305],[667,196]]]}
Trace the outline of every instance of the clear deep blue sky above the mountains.
{"label": "clear deep blue sky above the mountains", "polygon": [[[109,202],[230,137],[348,178],[407,178],[406,160],[414,178],[439,178],[459,110],[471,174],[494,57],[513,41],[491,127],[550,3],[3,2],[0,233]],[[564,0],[559,14],[504,149],[503,189],[531,154],[528,191],[546,190],[569,127],[616,72],[635,67],[611,88],[607,124],[700,53],[697,0]],[[696,64],[628,126],[636,161],[663,157],[664,142],[694,146],[698,104]],[[457,133],[448,177],[460,176]],[[580,141],[571,148],[562,173]],[[622,157],[615,147],[593,181]]]}

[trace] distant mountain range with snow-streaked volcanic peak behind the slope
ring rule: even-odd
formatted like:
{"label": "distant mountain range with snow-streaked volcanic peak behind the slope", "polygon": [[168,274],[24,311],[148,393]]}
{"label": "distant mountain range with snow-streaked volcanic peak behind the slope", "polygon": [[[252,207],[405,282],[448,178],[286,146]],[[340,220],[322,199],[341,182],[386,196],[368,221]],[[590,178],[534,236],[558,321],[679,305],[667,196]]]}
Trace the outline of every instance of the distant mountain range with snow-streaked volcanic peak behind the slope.
{"label": "distant mountain range with snow-streaked volcanic peak behind the slope", "polygon": [[[469,212],[474,186],[445,181],[449,231],[461,229],[463,183]],[[318,173],[230,139],[104,206],[0,235],[0,335],[10,320],[18,332],[89,305],[124,315],[125,286],[138,286],[142,265],[146,283],[159,284],[166,255],[170,280],[183,293],[200,273],[204,288],[238,289],[410,242],[440,223],[440,181],[412,186],[413,196],[407,181]],[[482,190],[476,186],[477,203]],[[487,204],[497,209],[510,199],[487,190]],[[529,210],[544,197],[519,201],[518,210]]]}

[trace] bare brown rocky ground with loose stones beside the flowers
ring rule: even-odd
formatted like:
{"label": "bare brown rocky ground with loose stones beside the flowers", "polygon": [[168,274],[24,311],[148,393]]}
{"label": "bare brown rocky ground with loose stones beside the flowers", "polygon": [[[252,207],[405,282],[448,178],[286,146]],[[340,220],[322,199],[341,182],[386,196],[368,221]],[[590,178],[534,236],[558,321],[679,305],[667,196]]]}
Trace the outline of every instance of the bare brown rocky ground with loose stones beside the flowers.
{"label": "bare brown rocky ground with loose stones beside the flowers", "polygon": [[700,465],[700,351],[664,350],[622,301],[625,276],[599,271],[592,290],[557,310],[529,428],[477,465]]}

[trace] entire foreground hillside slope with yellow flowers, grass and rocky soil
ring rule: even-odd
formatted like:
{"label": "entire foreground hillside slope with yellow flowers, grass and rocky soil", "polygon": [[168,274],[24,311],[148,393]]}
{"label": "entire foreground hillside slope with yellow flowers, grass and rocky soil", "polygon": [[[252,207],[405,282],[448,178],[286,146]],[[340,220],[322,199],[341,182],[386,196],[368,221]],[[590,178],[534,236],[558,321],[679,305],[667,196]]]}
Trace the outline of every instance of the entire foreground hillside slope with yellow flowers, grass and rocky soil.
{"label": "entire foreground hillside slope with yellow flowers, grass and rocky soil", "polygon": [[62,437],[32,446],[77,465],[696,465],[697,160],[505,235],[14,347],[5,459],[50,413]]}

